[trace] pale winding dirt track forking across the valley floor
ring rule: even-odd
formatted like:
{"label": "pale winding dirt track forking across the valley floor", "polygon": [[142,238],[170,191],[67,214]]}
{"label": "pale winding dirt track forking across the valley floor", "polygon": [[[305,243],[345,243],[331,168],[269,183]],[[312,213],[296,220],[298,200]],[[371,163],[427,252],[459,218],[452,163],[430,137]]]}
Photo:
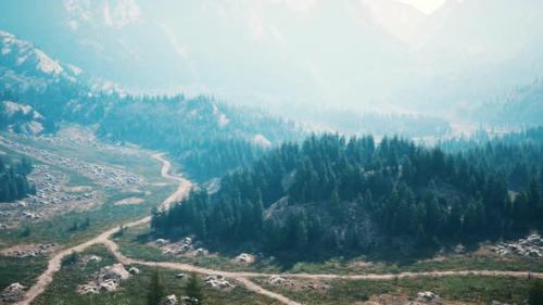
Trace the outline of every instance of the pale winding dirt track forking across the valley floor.
{"label": "pale winding dirt track forking across the valley floor", "polygon": [[[164,178],[173,179],[179,182],[177,190],[172,193],[164,202],[161,204],[161,209],[169,207],[174,202],[181,200],[190,191],[192,183],[179,176],[169,174],[172,164],[163,157],[163,154],[154,154],[153,158],[162,163],[161,175]],[[128,223],[123,225],[124,227],[135,227],[139,225],[147,224],[151,220],[151,217],[144,217],[139,220]],[[225,278],[232,279],[241,283],[245,289],[257,294],[262,294],[274,300],[277,300],[287,305],[301,305],[285,295],[268,291],[257,285],[251,278],[262,278],[270,276],[281,276],[286,278],[299,278],[299,279],[345,279],[345,280],[391,280],[396,278],[416,278],[416,277],[447,277],[447,276],[481,276],[481,277],[513,277],[513,278],[543,278],[543,272],[529,272],[529,271],[501,271],[501,270],[451,270],[451,271],[427,271],[427,272],[400,272],[400,274],[365,274],[365,275],[314,275],[314,274],[261,274],[261,272],[231,272],[223,270],[214,270],[202,267],[197,267],[189,264],[173,263],[173,262],[146,262],[139,259],[132,259],[124,256],[118,250],[118,245],[113,242],[110,238],[117,232],[118,228],[110,229],[100,236],[78,244],[76,246],[58,252],[49,260],[47,270],[41,274],[38,281],[26,292],[25,298],[22,302],[16,303],[17,305],[28,305],[38,295],[40,295],[46,288],[52,282],[53,275],[60,270],[62,258],[72,252],[81,252],[93,244],[103,244],[105,247],[115,256],[115,258],[124,265],[142,265],[150,267],[160,267],[173,270],[180,270],[186,272],[197,272],[202,275],[220,275]]]}

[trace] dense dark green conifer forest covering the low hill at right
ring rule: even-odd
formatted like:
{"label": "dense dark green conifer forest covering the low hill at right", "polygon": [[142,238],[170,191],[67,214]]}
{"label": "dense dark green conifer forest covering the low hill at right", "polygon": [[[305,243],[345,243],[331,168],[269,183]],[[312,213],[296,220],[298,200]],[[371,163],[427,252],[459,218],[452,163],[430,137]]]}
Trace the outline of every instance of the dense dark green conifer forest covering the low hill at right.
{"label": "dense dark green conifer forest covering the low hill at right", "polygon": [[312,136],[225,176],[216,193],[194,191],[155,213],[152,226],[168,238],[300,257],[406,254],[526,233],[543,225],[541,132],[449,149]]}

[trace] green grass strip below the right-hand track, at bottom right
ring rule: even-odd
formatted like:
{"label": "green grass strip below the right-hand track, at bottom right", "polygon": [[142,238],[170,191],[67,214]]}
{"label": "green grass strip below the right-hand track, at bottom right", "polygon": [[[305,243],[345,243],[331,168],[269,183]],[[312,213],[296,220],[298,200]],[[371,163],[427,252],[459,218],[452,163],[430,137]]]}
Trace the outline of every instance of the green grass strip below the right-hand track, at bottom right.
{"label": "green grass strip below the right-hand track, at bottom right", "polygon": [[[304,304],[352,304],[367,301],[372,295],[400,294],[416,297],[421,291],[432,291],[447,301],[488,303],[492,301],[519,304],[528,297],[534,280],[491,277],[412,278],[400,280],[333,280],[327,290],[293,291],[288,288],[258,282],[266,289],[281,293]],[[446,302],[444,302],[446,304]]]}

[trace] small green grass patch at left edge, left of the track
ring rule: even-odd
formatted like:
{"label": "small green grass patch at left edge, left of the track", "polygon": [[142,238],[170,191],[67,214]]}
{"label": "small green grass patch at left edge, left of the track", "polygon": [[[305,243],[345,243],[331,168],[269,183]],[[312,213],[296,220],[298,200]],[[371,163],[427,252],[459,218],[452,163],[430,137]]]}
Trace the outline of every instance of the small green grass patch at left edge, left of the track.
{"label": "small green grass patch at left edge, left of the track", "polygon": [[46,257],[0,256],[0,290],[14,282],[29,287],[46,268]]}

